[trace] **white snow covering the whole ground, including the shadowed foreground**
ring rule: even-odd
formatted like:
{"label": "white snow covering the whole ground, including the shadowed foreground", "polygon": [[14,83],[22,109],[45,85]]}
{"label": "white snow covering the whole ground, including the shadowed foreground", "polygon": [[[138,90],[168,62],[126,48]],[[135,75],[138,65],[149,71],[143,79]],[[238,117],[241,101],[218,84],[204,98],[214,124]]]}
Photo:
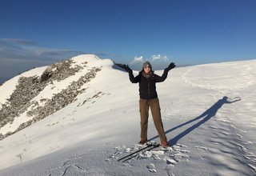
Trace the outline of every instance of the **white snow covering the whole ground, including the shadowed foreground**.
{"label": "white snow covering the whole ground, including the shadowed foreground", "polygon": [[[256,60],[170,70],[157,89],[173,146],[118,162],[142,148],[137,144],[138,84],[130,83],[110,59],[89,54],[71,59],[86,61],[87,67],[46,86],[34,100],[50,98],[94,66],[102,70],[77,101],[0,141],[0,175],[256,175]],[[45,69],[22,75],[41,75]],[[19,77],[0,87],[0,103],[10,97]],[[27,120],[23,116],[17,117],[17,126]],[[149,120],[148,138],[158,142]],[[0,133],[17,126],[3,126]]]}

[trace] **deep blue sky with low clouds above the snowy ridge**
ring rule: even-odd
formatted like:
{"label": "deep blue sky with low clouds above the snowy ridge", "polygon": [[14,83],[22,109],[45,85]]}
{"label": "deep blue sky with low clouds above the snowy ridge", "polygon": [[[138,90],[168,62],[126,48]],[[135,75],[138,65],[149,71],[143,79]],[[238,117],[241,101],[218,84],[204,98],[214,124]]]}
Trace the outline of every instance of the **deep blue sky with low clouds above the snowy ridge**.
{"label": "deep blue sky with low clouds above the snowy ridge", "polygon": [[162,69],[254,59],[255,49],[255,0],[0,1],[0,78],[84,53]]}

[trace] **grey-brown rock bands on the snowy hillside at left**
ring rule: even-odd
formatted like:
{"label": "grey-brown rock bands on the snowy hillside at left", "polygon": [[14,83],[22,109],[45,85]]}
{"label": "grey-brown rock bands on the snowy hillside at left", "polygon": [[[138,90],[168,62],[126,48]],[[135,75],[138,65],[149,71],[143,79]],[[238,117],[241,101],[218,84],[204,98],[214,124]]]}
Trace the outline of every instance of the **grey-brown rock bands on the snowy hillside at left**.
{"label": "grey-brown rock bands on the snowy hillside at left", "polygon": [[0,134],[0,140],[30,126],[34,122],[38,122],[42,118],[46,118],[48,115],[74,102],[77,95],[84,93],[86,90],[85,88],[82,90],[79,89],[87,82],[90,82],[96,76],[96,73],[101,70],[100,68],[94,67],[79,78],[78,81],[71,82],[70,86],[65,90],[54,94],[53,98],[42,99],[42,101],[46,101],[44,106],[38,106],[38,102],[36,101],[31,102],[47,85],[53,84],[54,81],[62,81],[74,75],[86,67],[87,62],[83,62],[83,66],[76,65],[71,67],[72,63],[72,60],[54,63],[46,68],[40,78],[36,76],[19,78],[14,93],[11,94],[8,101],[2,105],[2,109],[0,110],[0,128],[8,122],[14,122],[14,118],[24,113],[30,106],[32,106],[32,110],[29,110],[27,115],[34,116],[34,118],[29,122],[22,123],[14,132],[8,132],[5,135]]}

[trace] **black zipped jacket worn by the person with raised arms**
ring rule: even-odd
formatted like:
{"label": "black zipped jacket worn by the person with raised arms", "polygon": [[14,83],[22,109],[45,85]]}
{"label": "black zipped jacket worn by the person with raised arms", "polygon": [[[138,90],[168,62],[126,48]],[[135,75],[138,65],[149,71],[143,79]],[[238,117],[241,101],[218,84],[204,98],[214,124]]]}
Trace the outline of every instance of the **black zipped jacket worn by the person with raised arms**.
{"label": "black zipped jacket worn by the person with raised arms", "polygon": [[158,93],[156,91],[156,82],[163,82],[166,80],[168,70],[164,70],[162,76],[158,76],[151,72],[150,77],[146,78],[143,75],[143,70],[139,72],[138,76],[134,77],[132,71],[129,72],[130,82],[139,83],[139,96],[142,99],[153,99],[158,98]]}

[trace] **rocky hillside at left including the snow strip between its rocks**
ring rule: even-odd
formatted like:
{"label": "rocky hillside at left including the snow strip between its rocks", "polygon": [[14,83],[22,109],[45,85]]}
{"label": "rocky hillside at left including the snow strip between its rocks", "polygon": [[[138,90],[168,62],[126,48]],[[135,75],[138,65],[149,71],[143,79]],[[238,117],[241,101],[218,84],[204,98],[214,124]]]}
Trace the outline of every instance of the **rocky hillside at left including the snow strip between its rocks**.
{"label": "rocky hillside at left including the snow strip between its rocks", "polygon": [[[10,98],[2,101],[5,102],[1,111],[1,116],[5,118],[0,129],[2,138],[62,109],[73,102],[78,94],[85,91],[86,88],[82,88],[82,86],[90,82],[95,74],[101,70],[99,65],[98,68],[86,66],[86,59],[90,62],[99,60],[96,56],[87,56],[86,58],[78,56],[48,66],[40,77],[37,76],[38,74],[33,75],[34,70],[31,71],[31,74],[26,73],[18,76],[19,79],[15,84],[14,93],[10,95]],[[30,80],[26,81],[29,78]],[[1,88],[4,91],[6,87],[9,86],[3,85]],[[32,88],[26,90],[27,87]],[[18,95],[15,96],[16,92],[18,92]],[[32,94],[32,96],[27,98],[27,94]],[[19,98],[22,101],[15,102]],[[8,101],[6,102],[6,100]],[[25,106],[19,106],[20,104],[25,104]],[[14,106],[23,109],[22,112],[18,109],[15,111]],[[10,110],[6,112],[6,109]]]}

